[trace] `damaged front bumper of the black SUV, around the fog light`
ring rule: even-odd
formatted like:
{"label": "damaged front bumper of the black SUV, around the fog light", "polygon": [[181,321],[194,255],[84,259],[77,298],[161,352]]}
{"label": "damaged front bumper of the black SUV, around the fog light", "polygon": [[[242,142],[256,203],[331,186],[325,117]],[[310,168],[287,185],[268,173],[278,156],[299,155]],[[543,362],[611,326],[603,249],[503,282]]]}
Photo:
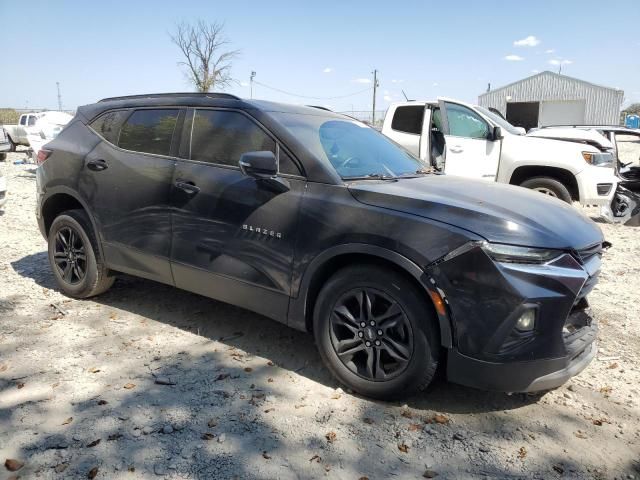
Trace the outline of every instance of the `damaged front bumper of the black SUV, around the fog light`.
{"label": "damaged front bumper of the black SUV, around the fog light", "polygon": [[[586,296],[598,280],[602,246],[546,264],[496,262],[478,246],[435,265],[433,282],[453,327],[450,381],[504,392],[558,387],[596,354],[597,325]],[[536,311],[535,328],[517,320]]]}

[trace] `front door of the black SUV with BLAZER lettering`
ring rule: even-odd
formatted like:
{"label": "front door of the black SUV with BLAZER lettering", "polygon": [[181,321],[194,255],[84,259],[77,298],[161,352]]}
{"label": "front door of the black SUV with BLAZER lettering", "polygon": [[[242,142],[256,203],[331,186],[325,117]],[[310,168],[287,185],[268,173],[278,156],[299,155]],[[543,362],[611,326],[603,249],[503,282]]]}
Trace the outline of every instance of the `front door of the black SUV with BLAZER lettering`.
{"label": "front door of the black SUV with BLAZER lettering", "polygon": [[[305,180],[276,139],[241,111],[187,112],[173,176],[171,267],[176,286],[284,319]],[[279,158],[289,190],[240,172],[243,153]]]}

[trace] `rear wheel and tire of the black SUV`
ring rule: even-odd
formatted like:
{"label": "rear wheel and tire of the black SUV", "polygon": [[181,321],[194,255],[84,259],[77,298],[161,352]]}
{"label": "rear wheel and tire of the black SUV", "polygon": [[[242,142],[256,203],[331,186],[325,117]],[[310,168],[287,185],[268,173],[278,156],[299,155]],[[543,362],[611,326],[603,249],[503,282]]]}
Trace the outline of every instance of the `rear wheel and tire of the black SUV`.
{"label": "rear wheel and tire of the black SUV", "polygon": [[60,290],[74,298],[89,298],[108,290],[109,276],[89,217],[70,210],[55,218],[49,229],[49,263]]}

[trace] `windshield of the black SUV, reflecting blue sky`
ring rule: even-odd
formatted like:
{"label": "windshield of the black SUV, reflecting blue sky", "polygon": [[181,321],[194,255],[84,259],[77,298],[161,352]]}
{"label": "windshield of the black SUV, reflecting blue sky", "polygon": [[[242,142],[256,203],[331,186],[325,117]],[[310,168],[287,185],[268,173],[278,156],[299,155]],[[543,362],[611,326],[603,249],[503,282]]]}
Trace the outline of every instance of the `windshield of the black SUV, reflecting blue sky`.
{"label": "windshield of the black SUV, reflecting blue sky", "polygon": [[429,169],[427,163],[364,123],[299,113],[271,115],[343,179],[407,176]]}

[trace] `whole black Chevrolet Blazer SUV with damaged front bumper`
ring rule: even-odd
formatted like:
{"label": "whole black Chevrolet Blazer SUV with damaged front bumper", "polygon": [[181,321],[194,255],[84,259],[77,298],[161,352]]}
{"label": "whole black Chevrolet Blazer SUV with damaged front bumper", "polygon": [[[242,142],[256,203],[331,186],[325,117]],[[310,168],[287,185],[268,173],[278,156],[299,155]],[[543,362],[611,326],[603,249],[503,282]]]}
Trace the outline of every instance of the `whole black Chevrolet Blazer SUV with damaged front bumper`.
{"label": "whole black Chevrolet Blazer SUV with damaged front bumper", "polygon": [[[603,237],[526,189],[430,173],[374,129],[226,94],[102,100],[38,153],[60,289],[118,272],[313,333],[364,395],[556,387],[594,357]],[[444,368],[444,367],[443,367]]]}

